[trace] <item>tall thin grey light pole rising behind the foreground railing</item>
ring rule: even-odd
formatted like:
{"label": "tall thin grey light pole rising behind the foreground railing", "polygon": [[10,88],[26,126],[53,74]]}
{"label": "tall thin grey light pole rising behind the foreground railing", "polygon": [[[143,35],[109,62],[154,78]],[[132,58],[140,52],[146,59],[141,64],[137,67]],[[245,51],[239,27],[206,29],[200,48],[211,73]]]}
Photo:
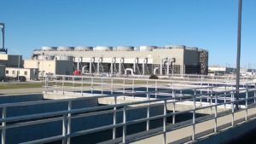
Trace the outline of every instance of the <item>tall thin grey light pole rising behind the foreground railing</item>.
{"label": "tall thin grey light pole rising behind the foreground railing", "polygon": [[[240,57],[241,57],[241,3],[238,0],[238,26],[237,26],[237,54],[236,54],[236,101],[239,99],[239,81],[240,81]],[[238,102],[236,102],[236,110]]]}

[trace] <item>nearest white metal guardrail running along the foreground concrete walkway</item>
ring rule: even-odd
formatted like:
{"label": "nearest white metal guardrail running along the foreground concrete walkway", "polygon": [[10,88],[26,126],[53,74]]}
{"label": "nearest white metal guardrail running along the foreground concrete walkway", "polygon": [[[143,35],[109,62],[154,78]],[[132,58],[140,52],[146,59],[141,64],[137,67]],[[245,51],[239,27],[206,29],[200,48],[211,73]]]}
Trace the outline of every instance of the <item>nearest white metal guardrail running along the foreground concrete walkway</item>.
{"label": "nearest white metal guardrail running along the foreground concrete walkway", "polygon": [[[201,88],[200,88],[201,89]],[[213,89],[213,87],[208,87],[207,89]],[[2,111],[2,118],[0,119],[0,123],[2,125],[0,126],[0,130],[2,130],[2,144],[8,143],[6,141],[6,131],[12,128],[17,127],[23,127],[23,126],[29,126],[33,124],[47,124],[50,122],[55,121],[61,121],[62,123],[62,133],[61,135],[55,135],[51,137],[47,137],[44,139],[34,140],[34,141],[26,141],[24,143],[44,143],[44,142],[50,142],[50,141],[62,141],[62,143],[70,143],[71,138],[79,135],[87,135],[91,133],[95,133],[102,130],[113,130],[113,140],[121,143],[127,143],[131,141],[137,141],[137,139],[133,139],[132,135],[126,135],[126,127],[131,124],[139,124],[139,123],[146,123],[146,130],[147,131],[154,131],[152,135],[163,135],[163,138],[166,143],[166,133],[171,130],[177,130],[181,129],[186,126],[192,126],[193,130],[191,131],[191,140],[195,140],[195,124],[205,122],[210,119],[214,119],[214,133],[218,132],[218,118],[223,117],[224,115],[231,114],[232,118],[230,119],[231,126],[234,126],[236,124],[236,121],[234,119],[234,114],[239,111],[245,111],[244,121],[247,121],[249,118],[256,116],[248,117],[248,109],[253,108],[256,106],[256,89],[255,88],[249,88],[246,86],[246,88],[241,88],[240,91],[242,94],[245,94],[246,96],[244,98],[240,98],[239,100],[234,99],[235,90],[233,89],[225,89],[224,91],[213,91],[209,90],[207,93],[201,93],[195,95],[177,95],[177,93],[180,91],[180,89],[158,89],[157,91],[145,91],[145,92],[131,92],[131,93],[124,93],[124,94],[116,94],[116,95],[95,95],[93,97],[81,97],[79,99],[66,99],[66,100],[50,100],[50,101],[30,101],[30,102],[19,102],[19,103],[12,103],[12,104],[1,104],[0,107],[3,109]],[[161,93],[166,93],[170,95],[170,97],[161,98],[161,99],[151,99],[150,95],[160,95]],[[253,94],[252,94],[253,93]],[[249,95],[251,94],[251,95]],[[148,98],[148,100],[145,101],[136,101],[136,102],[130,102],[130,103],[117,103],[117,97],[119,96],[136,96],[136,95],[145,95],[145,97]],[[78,100],[89,100],[94,98],[103,98],[103,97],[113,97],[115,104],[109,105],[109,106],[98,106],[98,107],[87,107],[87,108],[79,108],[79,109],[73,109],[73,101]],[[229,100],[226,101],[218,101],[220,98],[226,98],[229,97]],[[211,102],[208,102],[207,106],[198,106],[196,105],[196,102],[202,101],[202,100],[211,100]],[[31,106],[31,105],[39,105],[39,104],[47,104],[47,103],[56,103],[61,101],[67,101],[67,110],[64,111],[58,111],[58,112],[45,112],[45,113],[37,113],[37,114],[31,114],[31,115],[22,115],[22,116],[15,116],[15,117],[6,117],[7,116],[7,109],[9,107],[22,107],[22,106]],[[175,110],[175,106],[178,102],[183,101],[192,101],[193,102],[193,108],[179,111],[177,112]],[[240,109],[235,111],[235,105],[238,102],[244,102],[243,105],[240,104]],[[168,105],[173,106],[173,112],[167,111]],[[150,116],[149,111],[150,107],[153,106],[163,106],[163,114],[159,114],[156,116]],[[227,108],[226,106],[230,106],[230,108]],[[243,106],[243,107],[242,107]],[[139,118],[134,120],[127,120],[127,112],[129,112],[131,109],[137,109],[139,107],[146,107],[147,108],[147,117],[146,118]],[[218,107],[225,107],[224,112],[218,112]],[[214,112],[211,117],[202,117],[202,118],[195,118],[196,112],[201,109],[211,108]],[[123,121],[122,123],[117,123],[117,112],[123,113]],[[175,119],[177,115],[184,114],[187,112],[192,112],[192,118],[191,120],[187,121],[186,123],[176,123]],[[95,116],[99,114],[111,114],[113,115],[113,124],[108,124],[102,127],[92,128],[88,130],[79,130],[72,132],[72,121],[75,118],[87,118],[90,116]],[[172,117],[172,124],[167,124],[166,118]],[[162,119],[163,125],[162,127],[150,130],[149,125],[150,121],[154,119]],[[222,129],[226,128],[229,125],[226,125]],[[122,127],[122,139],[119,140],[119,138],[116,137],[116,129]],[[140,139],[147,138],[148,136],[152,135],[142,135]],[[203,135],[202,135],[203,136]]]}

